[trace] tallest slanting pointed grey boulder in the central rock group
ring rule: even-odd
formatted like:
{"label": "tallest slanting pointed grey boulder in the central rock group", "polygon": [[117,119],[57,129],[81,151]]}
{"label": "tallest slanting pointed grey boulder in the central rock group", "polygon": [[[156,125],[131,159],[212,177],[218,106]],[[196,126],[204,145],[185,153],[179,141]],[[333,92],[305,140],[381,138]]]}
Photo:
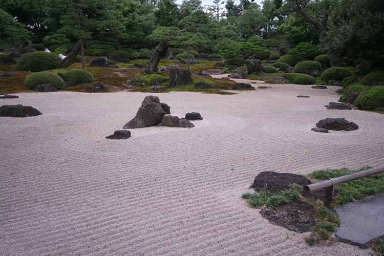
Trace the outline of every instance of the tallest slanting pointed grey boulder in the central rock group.
{"label": "tallest slanting pointed grey boulder in the central rock group", "polygon": [[165,115],[159,97],[146,96],[141,103],[136,116],[127,122],[123,129],[137,129],[153,125],[158,125]]}

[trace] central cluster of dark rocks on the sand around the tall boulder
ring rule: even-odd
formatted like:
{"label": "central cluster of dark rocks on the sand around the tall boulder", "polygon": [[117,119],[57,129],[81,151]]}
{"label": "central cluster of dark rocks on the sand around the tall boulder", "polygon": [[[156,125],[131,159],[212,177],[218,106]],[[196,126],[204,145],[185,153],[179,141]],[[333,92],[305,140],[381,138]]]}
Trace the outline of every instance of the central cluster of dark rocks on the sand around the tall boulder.
{"label": "central cluster of dark rocks on the sand around the tall boulder", "polygon": [[[168,126],[168,127],[195,127],[189,120],[202,120],[203,118],[197,112],[187,113],[185,118],[170,116],[170,107],[160,102],[157,96],[146,96],[141,103],[136,116],[127,122],[123,129],[138,129],[149,126]],[[131,132],[123,132],[124,130],[115,131],[108,139],[126,139],[131,137]]]}

